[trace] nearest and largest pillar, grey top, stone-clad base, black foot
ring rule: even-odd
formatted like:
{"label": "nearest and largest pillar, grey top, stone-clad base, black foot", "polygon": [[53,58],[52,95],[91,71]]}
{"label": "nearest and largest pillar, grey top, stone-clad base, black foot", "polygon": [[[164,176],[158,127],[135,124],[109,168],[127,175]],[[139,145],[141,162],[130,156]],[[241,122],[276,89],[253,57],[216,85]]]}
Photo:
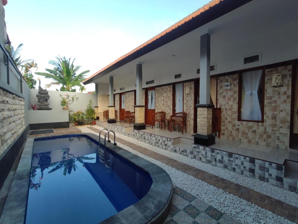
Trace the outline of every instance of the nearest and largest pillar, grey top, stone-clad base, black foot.
{"label": "nearest and largest pillar, grey top, stone-clad base, black foot", "polygon": [[210,146],[215,144],[212,134],[212,108],[210,104],[210,32],[201,35],[200,40],[200,102],[197,108],[197,134],[194,143]]}

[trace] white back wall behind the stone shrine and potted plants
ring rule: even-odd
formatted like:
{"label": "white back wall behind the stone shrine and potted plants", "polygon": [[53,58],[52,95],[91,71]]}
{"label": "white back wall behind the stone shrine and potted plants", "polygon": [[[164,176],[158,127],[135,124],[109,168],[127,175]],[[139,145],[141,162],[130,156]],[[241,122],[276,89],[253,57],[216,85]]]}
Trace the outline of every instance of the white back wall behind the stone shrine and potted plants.
{"label": "white back wall behind the stone shrine and potted plants", "polygon": [[[30,91],[30,103],[33,105],[38,102],[36,94],[38,92],[38,89],[34,90],[32,89]],[[95,94],[93,93],[74,93],[74,92],[64,92],[64,91],[52,91],[49,90],[49,96],[50,99],[48,100],[49,102],[49,107],[53,108],[52,111],[62,111],[62,106],[60,105],[60,96],[62,95],[65,97],[65,94],[69,94],[70,96],[76,95],[79,97],[78,101],[75,101],[73,104],[69,105],[69,111],[85,111],[87,104],[89,102],[89,99],[92,100],[92,106],[95,105]]]}

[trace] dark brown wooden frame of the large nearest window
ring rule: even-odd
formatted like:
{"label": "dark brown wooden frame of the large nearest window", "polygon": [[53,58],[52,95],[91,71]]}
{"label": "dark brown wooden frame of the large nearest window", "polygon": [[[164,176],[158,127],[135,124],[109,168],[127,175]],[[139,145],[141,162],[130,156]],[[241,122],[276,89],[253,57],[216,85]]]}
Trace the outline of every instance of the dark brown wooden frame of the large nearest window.
{"label": "dark brown wooden frame of the large nearest window", "polygon": [[[248,72],[248,71],[255,71],[255,70],[262,70],[262,77],[260,80],[260,85],[263,88],[263,100],[262,104],[260,105],[261,108],[261,114],[262,114],[262,119],[260,121],[256,120],[243,120],[241,119],[241,103],[242,103],[242,73],[243,72]],[[244,121],[244,122],[255,122],[255,123],[264,123],[264,109],[265,109],[265,67],[254,67],[254,68],[249,68],[245,70],[241,70],[238,73],[238,121]]]}

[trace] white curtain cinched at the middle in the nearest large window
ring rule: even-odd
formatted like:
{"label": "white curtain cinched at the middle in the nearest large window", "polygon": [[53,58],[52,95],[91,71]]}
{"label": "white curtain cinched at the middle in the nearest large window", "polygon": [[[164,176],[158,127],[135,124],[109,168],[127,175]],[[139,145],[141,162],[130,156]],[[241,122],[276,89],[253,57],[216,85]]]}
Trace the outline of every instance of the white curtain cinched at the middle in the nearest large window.
{"label": "white curtain cinched at the middle in the nearest large window", "polygon": [[241,113],[243,120],[262,120],[258,88],[260,85],[263,70],[249,71],[242,73],[244,87],[244,102]]}

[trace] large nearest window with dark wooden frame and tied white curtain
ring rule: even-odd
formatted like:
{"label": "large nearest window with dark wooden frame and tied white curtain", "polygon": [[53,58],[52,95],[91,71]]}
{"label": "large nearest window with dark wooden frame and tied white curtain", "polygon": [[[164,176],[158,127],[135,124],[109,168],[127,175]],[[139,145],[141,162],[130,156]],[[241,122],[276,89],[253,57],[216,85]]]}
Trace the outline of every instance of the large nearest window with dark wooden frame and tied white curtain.
{"label": "large nearest window with dark wooden frame and tied white curtain", "polygon": [[238,120],[263,122],[263,69],[239,74]]}

